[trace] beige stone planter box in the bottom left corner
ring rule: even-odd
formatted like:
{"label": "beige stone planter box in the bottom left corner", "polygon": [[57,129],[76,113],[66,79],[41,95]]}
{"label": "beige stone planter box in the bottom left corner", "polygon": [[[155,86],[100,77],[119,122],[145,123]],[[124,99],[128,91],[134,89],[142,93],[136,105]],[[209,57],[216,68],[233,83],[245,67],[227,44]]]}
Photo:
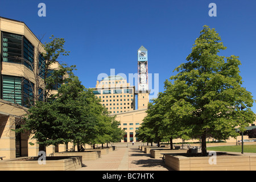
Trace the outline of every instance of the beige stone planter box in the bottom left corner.
{"label": "beige stone planter box in the bottom left corner", "polygon": [[81,156],[47,156],[46,164],[39,164],[38,157],[23,157],[0,161],[0,171],[73,171],[81,167]]}

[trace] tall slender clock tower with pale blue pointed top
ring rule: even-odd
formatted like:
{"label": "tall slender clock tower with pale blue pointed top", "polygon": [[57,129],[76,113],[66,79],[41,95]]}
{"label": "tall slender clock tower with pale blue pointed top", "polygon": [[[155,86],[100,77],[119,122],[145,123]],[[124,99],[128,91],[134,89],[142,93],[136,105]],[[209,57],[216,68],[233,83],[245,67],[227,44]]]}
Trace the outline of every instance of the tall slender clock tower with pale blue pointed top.
{"label": "tall slender clock tower with pale blue pointed top", "polygon": [[137,51],[138,60],[138,109],[147,109],[149,102],[147,49],[141,46]]}

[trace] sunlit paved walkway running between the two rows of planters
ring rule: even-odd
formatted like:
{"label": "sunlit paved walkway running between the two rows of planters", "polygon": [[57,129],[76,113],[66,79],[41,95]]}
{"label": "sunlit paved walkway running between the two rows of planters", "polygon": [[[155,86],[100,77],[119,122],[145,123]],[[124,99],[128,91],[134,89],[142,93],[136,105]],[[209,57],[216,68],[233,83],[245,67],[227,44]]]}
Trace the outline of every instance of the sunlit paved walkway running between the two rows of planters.
{"label": "sunlit paved walkway running between the two rows of planters", "polygon": [[86,160],[77,171],[171,171],[161,159],[139,150],[138,146],[121,146],[97,160]]}

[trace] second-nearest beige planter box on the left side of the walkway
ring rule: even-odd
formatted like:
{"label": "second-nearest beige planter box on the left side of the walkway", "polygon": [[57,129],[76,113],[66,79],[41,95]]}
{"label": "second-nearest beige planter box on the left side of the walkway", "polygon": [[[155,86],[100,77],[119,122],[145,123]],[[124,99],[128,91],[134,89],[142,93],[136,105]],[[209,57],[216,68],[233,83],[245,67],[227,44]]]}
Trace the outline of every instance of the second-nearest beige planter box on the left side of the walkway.
{"label": "second-nearest beige planter box on the left side of the walkway", "polygon": [[101,158],[101,151],[84,151],[84,152],[56,152],[53,156],[82,156],[84,160],[96,160]]}

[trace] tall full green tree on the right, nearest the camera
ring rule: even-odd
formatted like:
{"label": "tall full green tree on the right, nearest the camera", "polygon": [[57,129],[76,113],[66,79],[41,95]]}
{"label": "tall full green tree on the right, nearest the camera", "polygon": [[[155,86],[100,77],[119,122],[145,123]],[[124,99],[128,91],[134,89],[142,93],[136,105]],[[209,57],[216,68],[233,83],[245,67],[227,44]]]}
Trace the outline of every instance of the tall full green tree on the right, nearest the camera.
{"label": "tall full green tree on the right, nearest the camera", "polygon": [[204,26],[200,33],[188,62],[175,69],[179,73],[165,86],[175,101],[171,114],[176,113],[174,118],[180,118],[177,123],[190,130],[191,137],[201,137],[202,152],[206,155],[207,137],[236,137],[235,127],[244,130],[255,121],[255,115],[250,109],[253,97],[241,86],[238,57],[218,55],[226,47],[214,28]]}

